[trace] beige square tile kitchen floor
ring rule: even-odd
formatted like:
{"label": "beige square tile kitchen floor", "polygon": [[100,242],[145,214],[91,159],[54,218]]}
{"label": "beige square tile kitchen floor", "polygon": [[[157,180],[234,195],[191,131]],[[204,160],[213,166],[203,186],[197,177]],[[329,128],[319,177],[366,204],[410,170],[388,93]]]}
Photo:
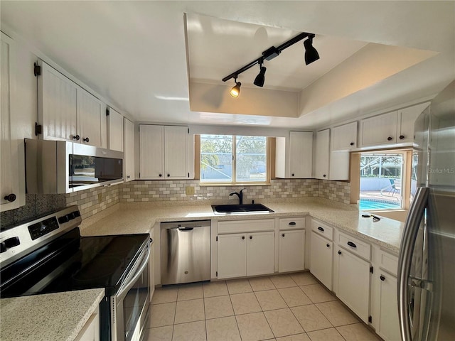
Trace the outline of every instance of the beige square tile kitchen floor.
{"label": "beige square tile kitchen floor", "polygon": [[157,288],[149,341],[378,341],[309,272]]}

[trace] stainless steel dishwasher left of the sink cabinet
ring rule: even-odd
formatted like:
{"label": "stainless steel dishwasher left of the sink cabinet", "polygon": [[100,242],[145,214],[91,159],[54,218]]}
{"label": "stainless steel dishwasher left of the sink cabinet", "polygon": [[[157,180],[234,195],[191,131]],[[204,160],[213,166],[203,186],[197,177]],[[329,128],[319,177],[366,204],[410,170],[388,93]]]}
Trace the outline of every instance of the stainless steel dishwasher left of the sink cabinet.
{"label": "stainless steel dishwasher left of the sink cabinet", "polygon": [[210,280],[210,220],[161,223],[161,284]]}

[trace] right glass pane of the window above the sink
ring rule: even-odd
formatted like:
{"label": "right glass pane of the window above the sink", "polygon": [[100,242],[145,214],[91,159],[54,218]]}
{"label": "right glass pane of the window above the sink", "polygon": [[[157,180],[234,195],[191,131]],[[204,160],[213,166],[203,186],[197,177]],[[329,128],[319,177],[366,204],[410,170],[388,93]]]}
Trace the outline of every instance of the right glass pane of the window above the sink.
{"label": "right glass pane of the window above the sink", "polygon": [[238,183],[267,180],[267,138],[236,136],[235,178]]}

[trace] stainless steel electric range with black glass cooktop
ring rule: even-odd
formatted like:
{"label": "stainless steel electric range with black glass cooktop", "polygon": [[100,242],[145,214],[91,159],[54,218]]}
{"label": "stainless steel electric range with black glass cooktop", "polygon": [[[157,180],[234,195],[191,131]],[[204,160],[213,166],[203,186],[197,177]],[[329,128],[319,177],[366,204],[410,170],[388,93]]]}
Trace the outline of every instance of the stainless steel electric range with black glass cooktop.
{"label": "stainless steel electric range with black glass cooktop", "polygon": [[105,288],[100,340],[149,328],[149,234],[81,237],[77,206],[0,231],[0,297]]}

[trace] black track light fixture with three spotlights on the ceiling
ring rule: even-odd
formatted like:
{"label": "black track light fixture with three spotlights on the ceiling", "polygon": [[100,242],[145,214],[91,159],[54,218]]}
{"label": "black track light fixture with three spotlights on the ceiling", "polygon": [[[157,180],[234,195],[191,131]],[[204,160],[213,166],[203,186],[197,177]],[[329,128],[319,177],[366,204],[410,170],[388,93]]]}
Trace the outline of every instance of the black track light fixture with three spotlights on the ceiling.
{"label": "black track light fixture with three spotlights on the ceiling", "polygon": [[237,76],[240,75],[242,72],[250,69],[251,67],[255,66],[256,64],[259,64],[259,74],[255,78],[254,84],[258,87],[263,87],[264,86],[264,80],[265,80],[265,71],[267,70],[267,67],[262,66],[262,63],[264,63],[264,60],[272,60],[273,58],[276,58],[279,56],[279,54],[284,50],[285,48],[289,48],[289,46],[294,45],[295,43],[298,43],[300,40],[304,38],[308,38],[304,41],[304,47],[305,47],[305,64],[309,65],[313,63],[314,61],[319,59],[319,53],[316,51],[316,48],[313,46],[313,38],[315,35],[313,33],[300,33],[299,35],[295,36],[294,38],[291,38],[287,40],[286,42],[282,43],[282,45],[279,45],[277,48],[274,46],[271,46],[270,48],[267,48],[264,52],[262,52],[262,56],[257,58],[256,60],[253,60],[251,63],[245,65],[244,67],[240,67],[239,70],[232,72],[230,75],[226,76],[223,78],[223,82],[226,82],[227,80],[230,80],[231,78],[234,78],[235,80],[235,87],[232,87],[230,90],[230,95],[232,97],[238,97],[240,94],[240,82],[237,82]]}

